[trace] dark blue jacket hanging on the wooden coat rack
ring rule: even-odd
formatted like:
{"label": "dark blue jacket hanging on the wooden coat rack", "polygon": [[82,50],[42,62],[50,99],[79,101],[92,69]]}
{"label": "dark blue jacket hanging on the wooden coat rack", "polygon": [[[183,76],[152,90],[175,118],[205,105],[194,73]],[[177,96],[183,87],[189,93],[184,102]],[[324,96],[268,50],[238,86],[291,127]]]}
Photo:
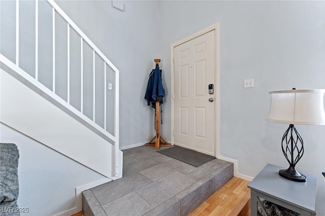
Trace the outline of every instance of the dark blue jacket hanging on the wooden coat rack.
{"label": "dark blue jacket hanging on the wooden coat rack", "polygon": [[159,104],[163,103],[163,97],[165,96],[165,89],[161,79],[161,71],[159,65],[156,64],[156,68],[151,71],[149,75],[147,90],[144,98],[147,100],[148,105],[150,102],[159,101]]}

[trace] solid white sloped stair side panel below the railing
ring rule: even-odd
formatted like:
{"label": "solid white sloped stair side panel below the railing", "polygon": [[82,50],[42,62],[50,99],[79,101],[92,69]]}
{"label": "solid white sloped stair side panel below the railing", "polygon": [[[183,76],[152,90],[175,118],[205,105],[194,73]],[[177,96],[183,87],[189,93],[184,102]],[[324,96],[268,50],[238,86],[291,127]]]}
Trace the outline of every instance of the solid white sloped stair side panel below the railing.
{"label": "solid white sloped stair side panel below the railing", "polygon": [[[111,179],[122,176],[122,152],[39,93],[0,69],[0,121]],[[118,175],[114,175],[118,157]]]}

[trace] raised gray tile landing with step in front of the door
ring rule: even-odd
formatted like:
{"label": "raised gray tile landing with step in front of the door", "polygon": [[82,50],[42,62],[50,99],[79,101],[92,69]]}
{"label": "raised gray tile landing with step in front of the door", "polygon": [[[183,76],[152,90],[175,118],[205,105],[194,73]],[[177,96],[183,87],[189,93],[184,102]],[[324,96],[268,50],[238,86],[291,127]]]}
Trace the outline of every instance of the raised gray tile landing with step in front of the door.
{"label": "raised gray tile landing with step in front of the door", "polygon": [[82,192],[84,215],[187,215],[233,177],[233,163],[193,167],[156,151],[123,150],[123,177]]}

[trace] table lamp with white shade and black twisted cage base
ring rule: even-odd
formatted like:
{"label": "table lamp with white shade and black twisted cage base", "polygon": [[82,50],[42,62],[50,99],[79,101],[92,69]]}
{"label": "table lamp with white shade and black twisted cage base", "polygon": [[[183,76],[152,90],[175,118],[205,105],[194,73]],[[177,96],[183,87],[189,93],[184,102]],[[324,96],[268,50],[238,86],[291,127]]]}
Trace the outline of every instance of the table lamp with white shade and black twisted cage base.
{"label": "table lamp with white shade and black twisted cage base", "polygon": [[295,182],[306,182],[296,164],[304,154],[304,142],[295,128],[297,125],[325,125],[325,89],[270,91],[271,104],[266,120],[289,124],[282,137],[282,152],[289,168],[279,170],[279,175]]}

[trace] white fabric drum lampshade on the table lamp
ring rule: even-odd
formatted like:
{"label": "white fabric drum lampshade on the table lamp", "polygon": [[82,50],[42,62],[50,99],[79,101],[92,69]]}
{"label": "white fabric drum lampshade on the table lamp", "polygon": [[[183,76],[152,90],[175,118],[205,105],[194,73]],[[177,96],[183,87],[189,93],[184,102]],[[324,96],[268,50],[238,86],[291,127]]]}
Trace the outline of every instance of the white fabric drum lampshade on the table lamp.
{"label": "white fabric drum lampshade on the table lamp", "polygon": [[325,89],[270,91],[270,122],[325,125]]}

